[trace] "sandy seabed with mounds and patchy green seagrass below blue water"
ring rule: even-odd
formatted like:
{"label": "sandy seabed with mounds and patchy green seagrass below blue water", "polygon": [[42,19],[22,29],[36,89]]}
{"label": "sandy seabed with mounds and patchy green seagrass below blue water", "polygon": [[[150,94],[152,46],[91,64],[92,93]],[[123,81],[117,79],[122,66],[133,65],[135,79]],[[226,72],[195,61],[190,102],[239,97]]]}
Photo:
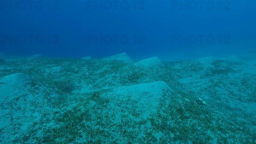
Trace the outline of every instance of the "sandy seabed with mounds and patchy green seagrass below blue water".
{"label": "sandy seabed with mounds and patchy green seagrass below blue water", "polygon": [[256,143],[256,61],[0,60],[0,143]]}

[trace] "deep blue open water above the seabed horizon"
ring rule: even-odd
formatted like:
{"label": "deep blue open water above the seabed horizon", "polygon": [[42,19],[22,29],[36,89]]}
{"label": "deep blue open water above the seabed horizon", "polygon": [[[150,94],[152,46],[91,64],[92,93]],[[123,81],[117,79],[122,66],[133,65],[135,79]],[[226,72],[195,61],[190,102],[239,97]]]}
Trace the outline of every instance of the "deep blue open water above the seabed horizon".
{"label": "deep blue open water above the seabed horizon", "polygon": [[[34,1],[30,5],[21,0],[3,0],[0,52],[77,58],[126,52],[134,59],[154,55],[164,60],[174,54],[188,57],[237,54],[255,49],[255,4],[251,0],[212,0],[202,5],[190,0],[127,0],[115,5],[112,1],[77,0]],[[32,35],[31,42],[28,35]],[[198,35],[204,35],[202,43]],[[101,36],[102,43],[96,39]],[[176,36],[178,39],[174,39]],[[214,42],[208,43],[212,37]],[[182,38],[188,42],[180,43]]]}

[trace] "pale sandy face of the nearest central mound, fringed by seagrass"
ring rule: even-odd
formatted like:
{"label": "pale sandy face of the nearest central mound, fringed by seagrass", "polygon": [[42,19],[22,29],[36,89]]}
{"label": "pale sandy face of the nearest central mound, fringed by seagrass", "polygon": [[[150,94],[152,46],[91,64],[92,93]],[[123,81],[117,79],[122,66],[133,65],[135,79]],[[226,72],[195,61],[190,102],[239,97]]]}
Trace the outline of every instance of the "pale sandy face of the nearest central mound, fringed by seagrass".
{"label": "pale sandy face of the nearest central mound, fringed by seagrass", "polygon": [[[165,90],[171,90],[163,81],[132,86],[120,86],[113,88],[110,92],[102,93],[102,98],[110,100],[109,106],[116,109],[128,109],[137,107],[140,118],[147,119],[148,116],[157,112],[160,98]],[[125,100],[125,103],[122,101]],[[119,105],[122,103],[122,105]]]}

